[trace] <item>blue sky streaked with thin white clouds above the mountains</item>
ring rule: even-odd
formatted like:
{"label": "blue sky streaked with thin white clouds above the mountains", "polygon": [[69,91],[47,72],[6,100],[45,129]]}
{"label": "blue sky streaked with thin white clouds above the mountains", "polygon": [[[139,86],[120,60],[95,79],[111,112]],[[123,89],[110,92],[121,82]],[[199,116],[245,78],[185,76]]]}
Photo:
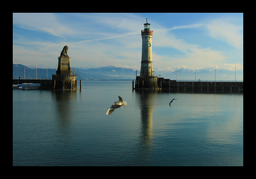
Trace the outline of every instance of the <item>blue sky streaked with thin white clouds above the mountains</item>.
{"label": "blue sky streaked with thin white clouds above the mountains", "polygon": [[140,71],[148,18],[154,71],[244,68],[243,13],[13,13],[12,63],[56,68],[68,46],[71,67]]}

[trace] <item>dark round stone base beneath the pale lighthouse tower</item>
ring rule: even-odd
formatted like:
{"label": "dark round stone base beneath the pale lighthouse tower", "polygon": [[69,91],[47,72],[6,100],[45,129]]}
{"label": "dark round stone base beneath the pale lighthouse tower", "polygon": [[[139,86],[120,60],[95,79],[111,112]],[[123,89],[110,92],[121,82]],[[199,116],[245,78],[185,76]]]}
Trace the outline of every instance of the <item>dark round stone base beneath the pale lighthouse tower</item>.
{"label": "dark round stone base beneath the pale lighthouse tower", "polygon": [[157,76],[136,76],[135,89],[159,89]]}

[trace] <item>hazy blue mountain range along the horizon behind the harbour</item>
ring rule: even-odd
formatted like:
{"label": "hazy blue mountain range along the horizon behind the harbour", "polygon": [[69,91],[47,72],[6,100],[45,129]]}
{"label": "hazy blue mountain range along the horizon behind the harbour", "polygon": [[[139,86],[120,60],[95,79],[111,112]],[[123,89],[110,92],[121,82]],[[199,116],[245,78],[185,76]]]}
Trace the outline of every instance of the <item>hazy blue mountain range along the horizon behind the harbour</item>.
{"label": "hazy blue mountain range along the horizon behind the harbour", "polygon": [[[71,68],[74,73],[74,67]],[[48,68],[29,68],[25,66],[26,78],[48,78],[52,77],[52,74],[56,74],[56,69]],[[75,74],[77,80],[135,80],[136,70],[129,68],[121,68],[115,66],[105,66],[100,68],[81,69],[75,68]],[[140,72],[137,72],[140,74]],[[195,80],[195,71],[190,69],[181,68],[177,72],[161,72],[155,69],[155,76],[163,77],[165,79],[176,80],[178,74],[179,80]],[[243,80],[243,70],[236,70],[236,80]],[[24,78],[24,65],[12,64],[12,77]],[[196,81],[214,81],[215,80],[215,68],[204,68],[196,70]],[[216,81],[234,81],[235,71],[216,69]]]}

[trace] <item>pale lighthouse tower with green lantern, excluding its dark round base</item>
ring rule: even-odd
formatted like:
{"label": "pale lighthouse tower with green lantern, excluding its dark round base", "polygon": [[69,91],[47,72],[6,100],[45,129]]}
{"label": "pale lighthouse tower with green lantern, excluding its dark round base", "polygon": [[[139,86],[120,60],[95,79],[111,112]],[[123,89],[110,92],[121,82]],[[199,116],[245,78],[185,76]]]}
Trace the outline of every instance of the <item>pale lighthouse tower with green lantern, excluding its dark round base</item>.
{"label": "pale lighthouse tower with green lantern, excluding its dark round base", "polygon": [[153,30],[150,30],[150,24],[144,24],[144,30],[141,31],[142,38],[142,52],[141,52],[141,66],[140,76],[154,76],[153,74],[153,60],[152,60],[152,36]]}

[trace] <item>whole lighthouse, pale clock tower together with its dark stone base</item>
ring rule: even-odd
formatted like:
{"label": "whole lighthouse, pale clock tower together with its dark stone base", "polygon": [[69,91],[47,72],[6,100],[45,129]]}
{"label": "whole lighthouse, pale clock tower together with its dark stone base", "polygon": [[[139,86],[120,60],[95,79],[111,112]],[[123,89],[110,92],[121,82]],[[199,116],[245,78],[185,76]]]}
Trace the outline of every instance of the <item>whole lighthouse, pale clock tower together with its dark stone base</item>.
{"label": "whole lighthouse, pale clock tower together with its dark stone base", "polygon": [[158,89],[157,76],[153,72],[152,58],[152,36],[153,30],[150,30],[150,24],[144,24],[144,30],[141,30],[142,51],[140,76],[136,76],[136,88]]}

